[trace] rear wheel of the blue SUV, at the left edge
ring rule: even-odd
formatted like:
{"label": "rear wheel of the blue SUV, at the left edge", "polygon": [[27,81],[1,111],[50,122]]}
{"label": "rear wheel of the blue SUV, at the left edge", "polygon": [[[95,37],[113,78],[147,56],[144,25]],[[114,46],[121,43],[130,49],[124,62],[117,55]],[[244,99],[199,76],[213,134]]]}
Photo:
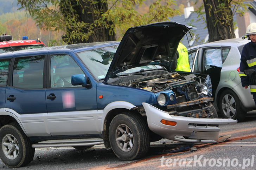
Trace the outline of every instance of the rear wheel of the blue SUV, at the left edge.
{"label": "rear wheel of the blue SUV, at the left edge", "polygon": [[0,142],[1,160],[10,168],[25,166],[33,160],[35,149],[17,122],[0,129]]}

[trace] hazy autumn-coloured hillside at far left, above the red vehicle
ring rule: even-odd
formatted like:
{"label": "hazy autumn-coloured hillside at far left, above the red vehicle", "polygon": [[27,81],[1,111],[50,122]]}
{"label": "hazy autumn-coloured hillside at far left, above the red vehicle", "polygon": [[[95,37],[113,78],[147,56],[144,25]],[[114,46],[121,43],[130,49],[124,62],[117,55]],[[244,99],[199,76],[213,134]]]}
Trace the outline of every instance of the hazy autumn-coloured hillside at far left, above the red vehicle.
{"label": "hazy autumn-coloured hillside at far left, above the red vehicle", "polygon": [[29,39],[40,39],[47,46],[63,45],[62,32],[39,29],[36,22],[24,9],[18,10],[17,0],[1,0],[0,34],[13,36],[13,40],[21,40],[23,36]]}

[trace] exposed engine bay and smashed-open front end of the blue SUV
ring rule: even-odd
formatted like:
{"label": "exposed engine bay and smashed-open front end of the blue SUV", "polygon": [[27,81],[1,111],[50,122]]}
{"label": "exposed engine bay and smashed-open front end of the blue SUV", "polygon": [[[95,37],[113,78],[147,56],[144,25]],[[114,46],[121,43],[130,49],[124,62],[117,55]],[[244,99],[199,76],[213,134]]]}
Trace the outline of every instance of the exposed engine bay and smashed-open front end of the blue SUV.
{"label": "exposed engine bay and smashed-open front end of the blue SUV", "polygon": [[[110,79],[108,83],[144,89],[151,91],[156,96],[171,91],[175,100],[170,97],[171,101],[168,104],[161,105],[160,102],[158,106],[171,115],[188,117],[210,117],[212,115],[210,108],[213,106],[210,101],[213,101],[213,98],[210,98],[212,87],[209,76],[204,79],[191,73],[150,70],[123,74],[121,77]],[[198,112],[198,109],[201,111]],[[193,113],[193,110],[197,110],[197,112]]]}

